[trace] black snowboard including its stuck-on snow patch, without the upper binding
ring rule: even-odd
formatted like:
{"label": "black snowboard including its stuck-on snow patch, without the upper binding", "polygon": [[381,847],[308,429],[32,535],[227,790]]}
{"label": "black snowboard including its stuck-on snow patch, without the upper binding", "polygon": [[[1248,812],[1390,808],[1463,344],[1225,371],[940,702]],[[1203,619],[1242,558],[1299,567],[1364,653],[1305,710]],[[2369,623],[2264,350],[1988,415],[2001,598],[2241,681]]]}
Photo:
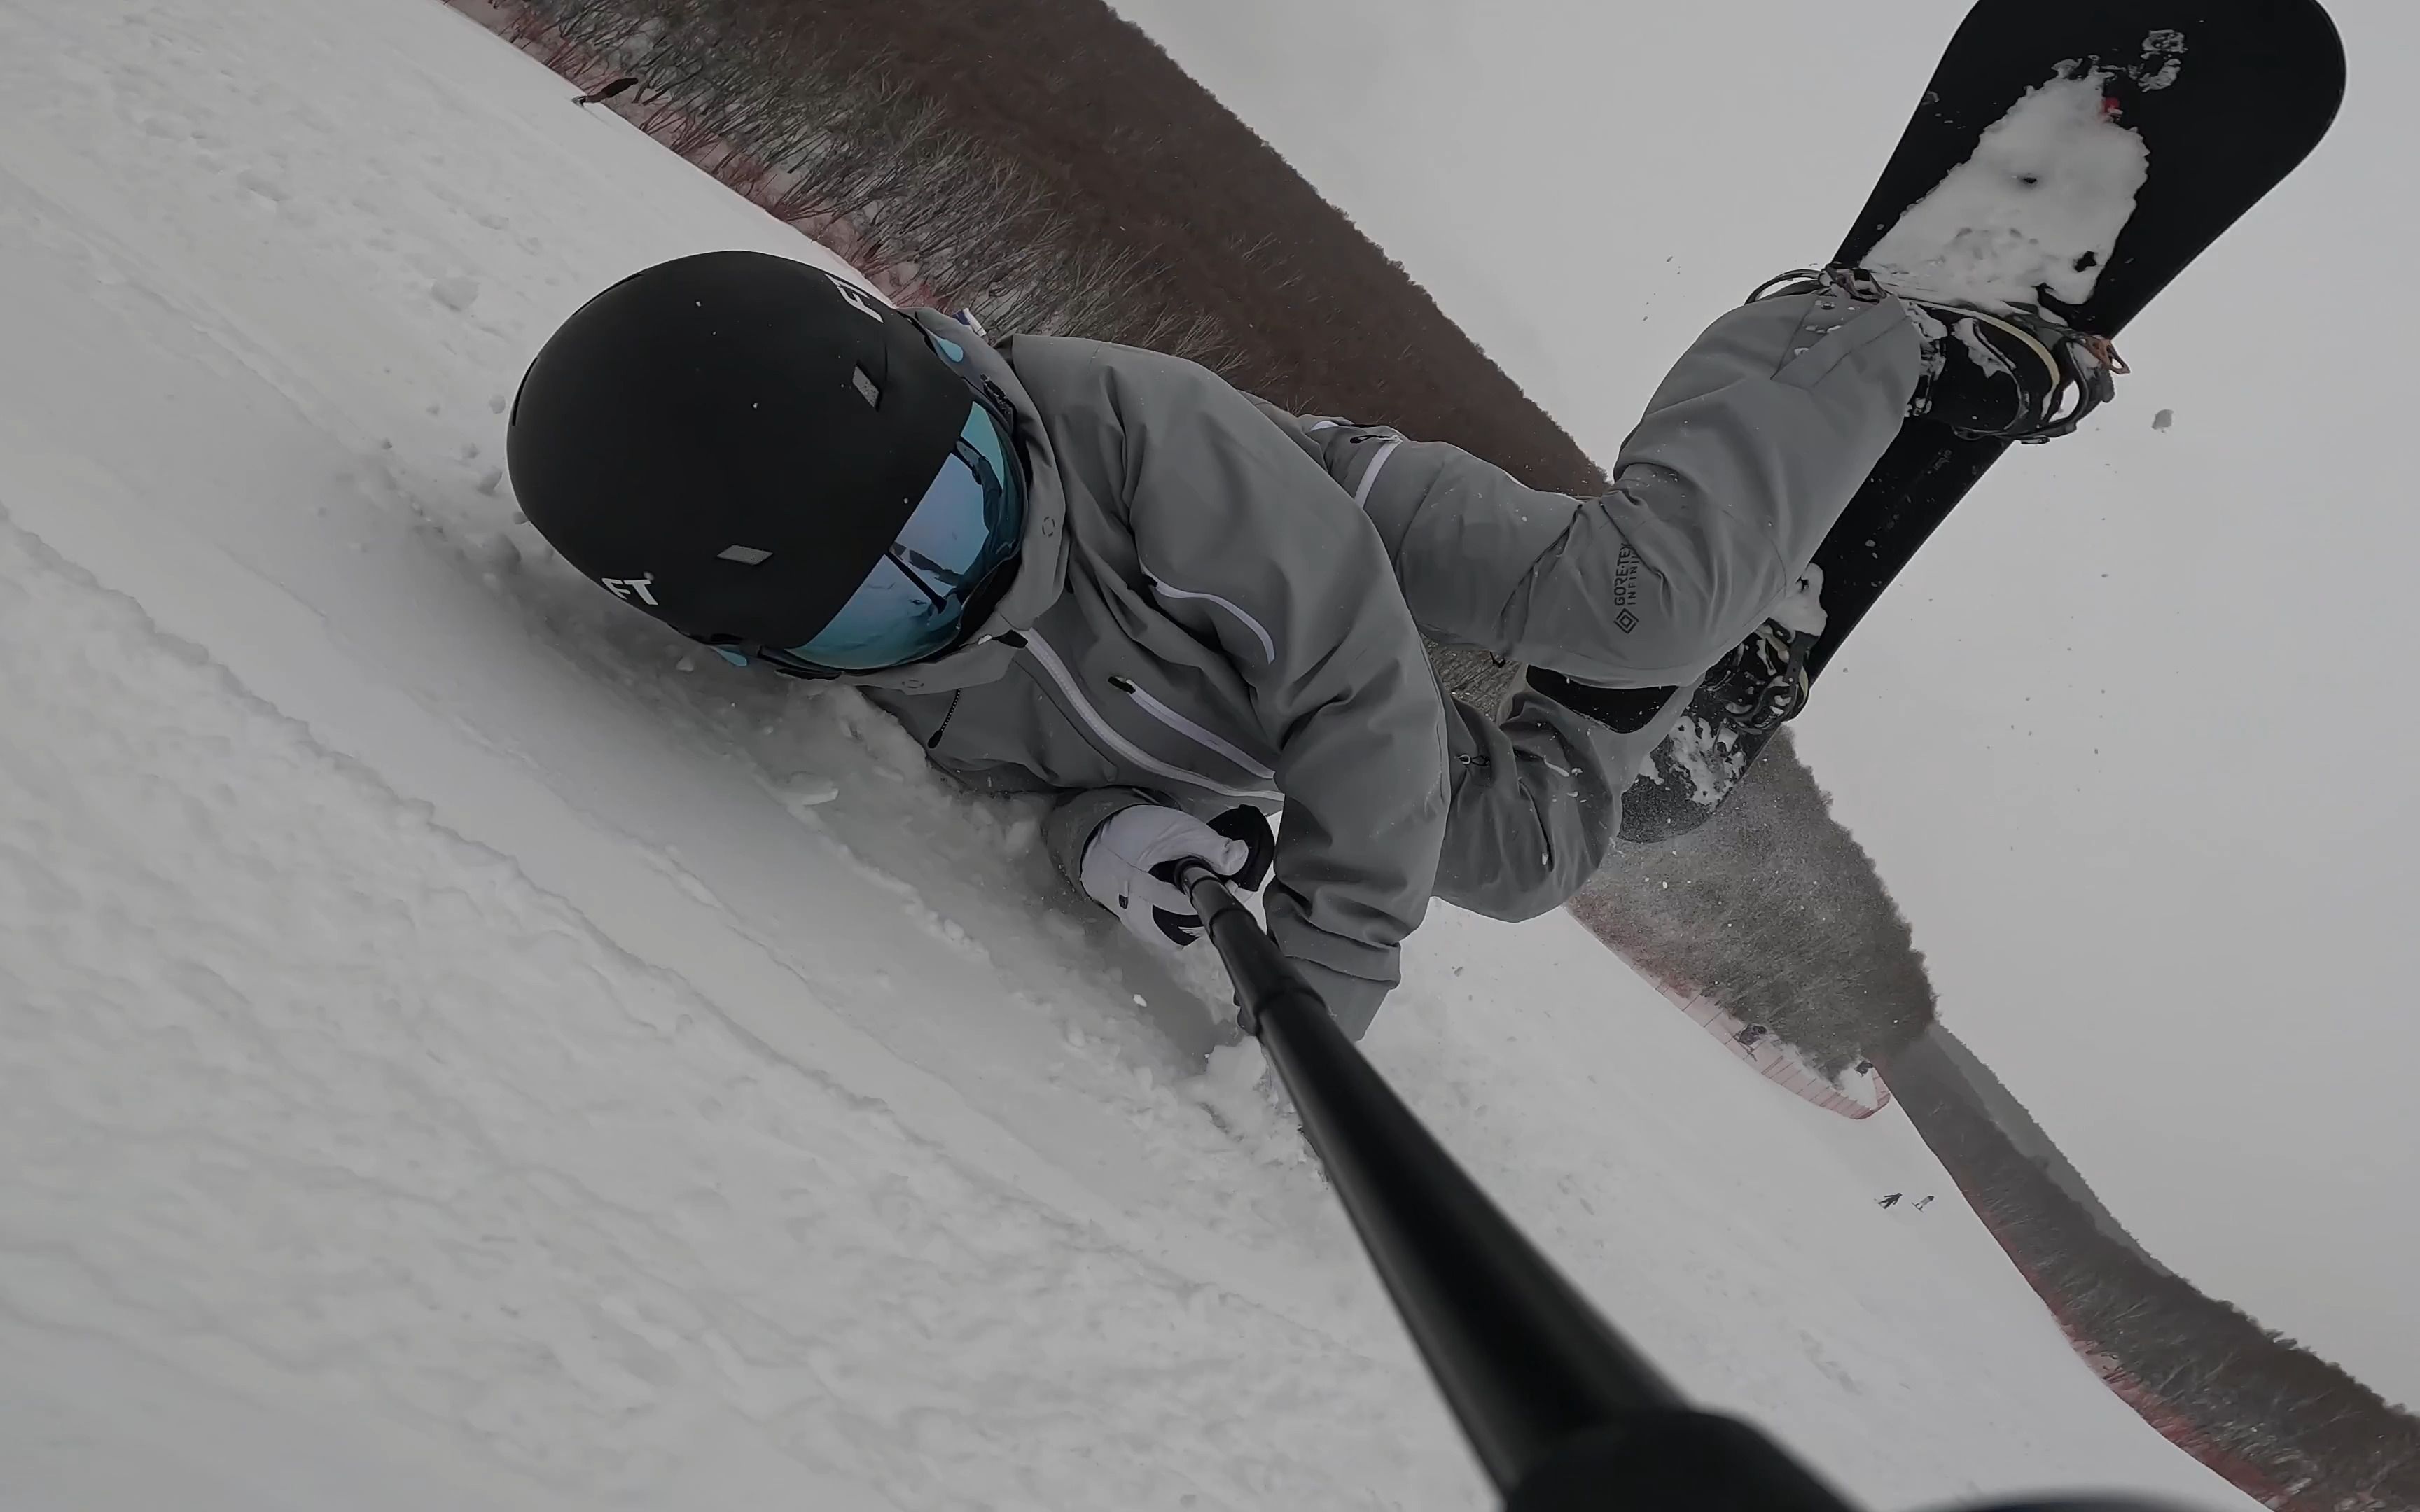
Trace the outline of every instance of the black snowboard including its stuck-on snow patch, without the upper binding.
{"label": "black snowboard including its stuck-on snow patch, without the upper binding", "polygon": [[[1982,0],[1832,261],[2118,336],[2318,145],[2343,92],[2345,51],[2316,0]],[[1624,793],[1624,839],[1682,835],[1723,806],[2004,450],[1907,421],[1815,554],[1822,627],[1791,634],[1803,682],[1769,677],[1771,644],[1718,663]]]}

